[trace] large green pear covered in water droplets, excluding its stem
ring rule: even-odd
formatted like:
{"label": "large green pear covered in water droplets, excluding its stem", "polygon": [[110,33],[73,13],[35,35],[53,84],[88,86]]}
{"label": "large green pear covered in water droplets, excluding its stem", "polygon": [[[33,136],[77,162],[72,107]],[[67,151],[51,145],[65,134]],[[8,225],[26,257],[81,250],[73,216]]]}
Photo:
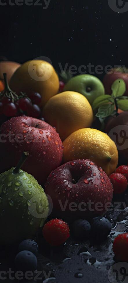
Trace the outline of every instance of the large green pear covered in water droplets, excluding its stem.
{"label": "large green pear covered in water droplets, excluding its stem", "polygon": [[47,196],[34,177],[13,170],[0,174],[1,244],[34,238],[49,211]]}

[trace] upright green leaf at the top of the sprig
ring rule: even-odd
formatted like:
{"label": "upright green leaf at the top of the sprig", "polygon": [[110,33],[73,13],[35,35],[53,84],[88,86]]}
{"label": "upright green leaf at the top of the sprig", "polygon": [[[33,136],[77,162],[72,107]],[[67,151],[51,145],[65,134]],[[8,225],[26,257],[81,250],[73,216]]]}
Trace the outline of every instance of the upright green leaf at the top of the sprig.
{"label": "upright green leaf at the top of the sprig", "polygon": [[111,86],[113,98],[122,96],[126,91],[126,84],[125,81],[122,79],[117,79]]}

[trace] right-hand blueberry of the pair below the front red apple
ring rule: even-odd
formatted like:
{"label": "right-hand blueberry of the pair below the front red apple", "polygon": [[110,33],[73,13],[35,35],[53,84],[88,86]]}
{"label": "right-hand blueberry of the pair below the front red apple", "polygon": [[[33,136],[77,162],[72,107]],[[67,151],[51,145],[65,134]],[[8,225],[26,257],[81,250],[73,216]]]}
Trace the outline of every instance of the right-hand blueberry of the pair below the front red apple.
{"label": "right-hand blueberry of the pair below the front red apple", "polygon": [[111,223],[105,217],[95,217],[92,219],[91,235],[96,241],[107,238],[111,232]]}

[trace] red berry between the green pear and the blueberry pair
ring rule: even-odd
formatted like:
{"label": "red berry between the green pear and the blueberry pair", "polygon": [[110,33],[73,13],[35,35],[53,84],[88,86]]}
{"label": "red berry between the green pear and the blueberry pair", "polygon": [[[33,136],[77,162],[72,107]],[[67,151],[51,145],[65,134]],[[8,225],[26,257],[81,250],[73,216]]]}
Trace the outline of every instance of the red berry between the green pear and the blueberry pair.
{"label": "red berry between the green pear and the blueberry pair", "polygon": [[52,219],[43,227],[43,237],[52,246],[63,244],[70,237],[69,226],[61,219]]}

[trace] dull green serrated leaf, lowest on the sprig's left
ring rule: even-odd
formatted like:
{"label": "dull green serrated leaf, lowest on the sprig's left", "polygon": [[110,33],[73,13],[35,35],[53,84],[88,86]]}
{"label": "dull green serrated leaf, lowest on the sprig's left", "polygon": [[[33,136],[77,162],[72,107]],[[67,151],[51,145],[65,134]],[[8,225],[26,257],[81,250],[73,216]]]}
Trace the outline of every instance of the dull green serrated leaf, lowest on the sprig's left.
{"label": "dull green serrated leaf, lowest on the sprig's left", "polygon": [[106,118],[110,116],[114,111],[114,104],[106,104],[103,106],[100,106],[98,109],[98,113],[96,114],[96,117],[98,118]]}

